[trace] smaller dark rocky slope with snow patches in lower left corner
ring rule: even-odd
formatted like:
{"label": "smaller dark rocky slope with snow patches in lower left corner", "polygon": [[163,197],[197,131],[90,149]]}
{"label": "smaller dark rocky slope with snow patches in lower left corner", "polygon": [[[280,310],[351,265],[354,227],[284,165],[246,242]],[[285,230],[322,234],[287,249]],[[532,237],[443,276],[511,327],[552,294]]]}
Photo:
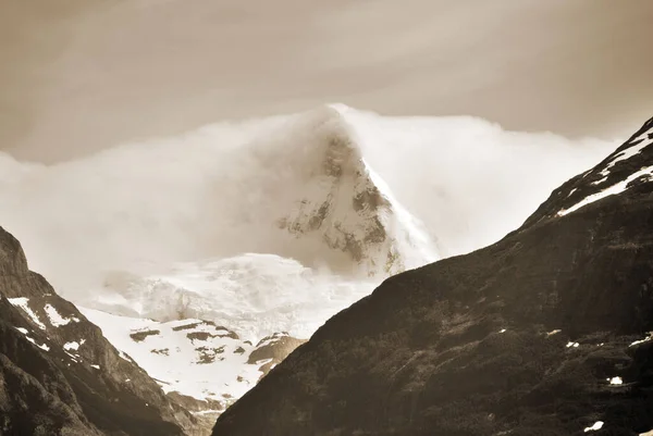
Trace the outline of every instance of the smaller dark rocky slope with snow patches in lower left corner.
{"label": "smaller dark rocky slope with snow patches in lower left corner", "polygon": [[19,241],[0,228],[0,435],[183,435],[194,426],[28,270]]}

